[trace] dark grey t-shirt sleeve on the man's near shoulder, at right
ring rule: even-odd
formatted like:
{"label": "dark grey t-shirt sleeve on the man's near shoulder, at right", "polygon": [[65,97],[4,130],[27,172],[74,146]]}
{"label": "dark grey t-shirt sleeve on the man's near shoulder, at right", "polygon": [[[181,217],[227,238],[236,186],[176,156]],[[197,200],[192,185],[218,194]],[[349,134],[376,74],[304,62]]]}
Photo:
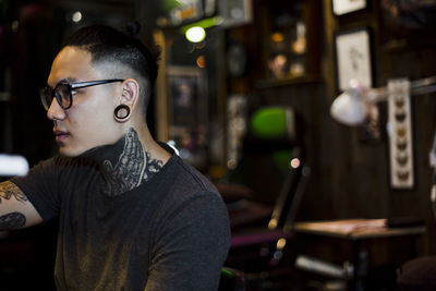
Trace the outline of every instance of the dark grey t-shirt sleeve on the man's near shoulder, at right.
{"label": "dark grey t-shirt sleeve on the man's near shoulder, at right", "polygon": [[158,225],[147,291],[218,290],[230,245],[227,209],[216,193],[202,193]]}

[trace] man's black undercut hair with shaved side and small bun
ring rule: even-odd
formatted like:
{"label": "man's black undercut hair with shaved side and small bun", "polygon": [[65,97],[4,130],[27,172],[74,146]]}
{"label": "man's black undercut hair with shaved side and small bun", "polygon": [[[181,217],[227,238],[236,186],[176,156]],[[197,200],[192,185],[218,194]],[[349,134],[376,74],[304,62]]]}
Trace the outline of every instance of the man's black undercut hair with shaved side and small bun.
{"label": "man's black undercut hair with shaved side and small bun", "polygon": [[[133,28],[132,28],[133,27]],[[144,120],[149,99],[152,98],[157,73],[158,52],[152,51],[138,38],[138,27],[128,26],[126,32],[121,32],[106,25],[92,25],[73,33],[62,45],[64,47],[77,47],[92,54],[92,64],[114,64],[119,70],[112,72],[114,78],[132,77],[140,83],[140,101],[142,101]],[[117,75],[130,69],[133,76]],[[125,70],[124,70],[125,71]]]}

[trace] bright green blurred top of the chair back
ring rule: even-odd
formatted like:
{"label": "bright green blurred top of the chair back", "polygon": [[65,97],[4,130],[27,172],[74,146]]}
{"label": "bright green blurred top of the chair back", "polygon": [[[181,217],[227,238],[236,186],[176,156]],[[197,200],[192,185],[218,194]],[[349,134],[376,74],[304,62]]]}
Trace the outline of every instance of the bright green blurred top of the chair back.
{"label": "bright green blurred top of the chair back", "polygon": [[282,107],[265,107],[251,118],[250,126],[259,138],[280,138],[288,134],[288,118]]}

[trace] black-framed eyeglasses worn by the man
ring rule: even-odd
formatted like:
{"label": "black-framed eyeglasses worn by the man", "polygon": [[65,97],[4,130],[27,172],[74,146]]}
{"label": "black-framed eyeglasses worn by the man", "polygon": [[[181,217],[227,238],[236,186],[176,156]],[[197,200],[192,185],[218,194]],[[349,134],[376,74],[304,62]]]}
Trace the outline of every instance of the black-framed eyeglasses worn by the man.
{"label": "black-framed eyeglasses worn by the man", "polygon": [[62,109],[69,109],[73,105],[72,92],[74,89],[114,83],[114,82],[123,82],[123,81],[124,80],[121,78],[111,78],[111,80],[98,80],[98,81],[88,81],[78,83],[61,82],[58,85],[56,85],[55,89],[52,89],[49,86],[41,88],[39,92],[39,96],[41,98],[44,108],[46,110],[50,108],[50,105],[55,97]]}

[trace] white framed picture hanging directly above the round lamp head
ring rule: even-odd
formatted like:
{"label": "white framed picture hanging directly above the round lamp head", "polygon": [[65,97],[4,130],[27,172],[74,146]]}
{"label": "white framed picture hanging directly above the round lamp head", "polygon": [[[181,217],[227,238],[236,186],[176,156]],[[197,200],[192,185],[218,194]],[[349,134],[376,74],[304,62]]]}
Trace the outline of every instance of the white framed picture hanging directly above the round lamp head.
{"label": "white framed picture hanging directly above the round lamp head", "polygon": [[338,33],[335,37],[336,68],[339,90],[355,78],[366,87],[373,86],[371,35],[368,28]]}

